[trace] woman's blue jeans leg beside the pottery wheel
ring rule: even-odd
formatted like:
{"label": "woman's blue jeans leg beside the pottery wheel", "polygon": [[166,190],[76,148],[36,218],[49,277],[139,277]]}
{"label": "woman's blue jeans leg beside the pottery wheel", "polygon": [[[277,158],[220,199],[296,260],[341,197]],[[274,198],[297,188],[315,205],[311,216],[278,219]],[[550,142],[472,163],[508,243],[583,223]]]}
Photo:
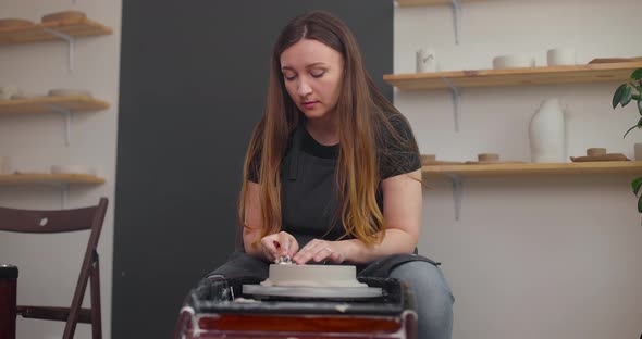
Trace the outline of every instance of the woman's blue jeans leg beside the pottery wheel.
{"label": "woman's blue jeans leg beside the pottery wheel", "polygon": [[415,294],[418,339],[450,339],[455,298],[442,271],[430,263],[413,261],[395,267],[390,277],[408,284]]}

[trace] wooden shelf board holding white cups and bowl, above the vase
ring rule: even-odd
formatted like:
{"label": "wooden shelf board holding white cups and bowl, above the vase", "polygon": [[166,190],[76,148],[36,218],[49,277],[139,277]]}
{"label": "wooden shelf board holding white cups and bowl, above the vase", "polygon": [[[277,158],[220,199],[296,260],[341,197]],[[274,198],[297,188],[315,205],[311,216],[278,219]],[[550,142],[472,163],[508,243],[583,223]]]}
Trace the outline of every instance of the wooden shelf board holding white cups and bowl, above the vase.
{"label": "wooden shelf board holding white cups and bowl, above the vase", "polygon": [[419,74],[386,74],[383,79],[405,90],[457,87],[624,81],[642,62],[601,63],[573,66],[454,71]]}

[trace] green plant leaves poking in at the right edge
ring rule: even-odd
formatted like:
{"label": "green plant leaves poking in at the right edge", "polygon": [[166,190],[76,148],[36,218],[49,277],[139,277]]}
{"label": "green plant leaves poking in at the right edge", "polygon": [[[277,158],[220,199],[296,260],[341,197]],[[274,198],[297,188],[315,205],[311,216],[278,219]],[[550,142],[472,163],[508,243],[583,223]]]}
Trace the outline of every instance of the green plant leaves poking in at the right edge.
{"label": "green plant leaves poking in at the right edge", "polygon": [[[617,108],[617,105],[621,105],[622,108],[627,104],[635,102],[638,105],[638,112],[640,113],[641,117],[638,121],[638,124],[633,125],[629,130],[625,133],[626,137],[629,131],[633,130],[633,128],[642,128],[642,68],[638,68],[633,71],[629,79],[620,85],[613,95],[613,108]],[[638,212],[642,213],[642,194],[640,192],[640,188],[642,187],[642,177],[638,177],[633,179],[631,183],[631,188],[633,189],[633,194],[638,198]]]}

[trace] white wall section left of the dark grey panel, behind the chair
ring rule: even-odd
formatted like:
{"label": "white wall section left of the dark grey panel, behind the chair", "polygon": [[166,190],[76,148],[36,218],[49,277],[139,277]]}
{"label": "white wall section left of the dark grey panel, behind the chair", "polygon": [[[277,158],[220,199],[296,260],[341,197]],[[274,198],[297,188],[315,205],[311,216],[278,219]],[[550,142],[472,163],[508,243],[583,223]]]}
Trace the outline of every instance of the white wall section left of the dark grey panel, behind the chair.
{"label": "white wall section left of the dark grey panel, behind the chair", "polygon": [[[39,21],[44,14],[78,10],[113,28],[113,34],[76,40],[75,68],[67,72],[65,42],[40,42],[0,47],[0,86],[17,85],[46,93],[51,88],[90,90],[111,108],[73,115],[71,145],[64,145],[64,120],[58,114],[0,116],[0,155],[11,158],[17,171],[47,171],[52,164],[92,166],[107,179],[101,186],[72,186],[69,206],[96,204],[108,197],[110,208],[99,243],[101,260],[102,324],[110,338],[113,253],[113,198],[119,100],[119,63],[122,1],[0,0],[0,17]],[[26,209],[60,209],[61,193],[53,187],[0,187],[0,205]],[[71,302],[87,234],[73,237],[0,233],[0,261],[20,268],[18,303],[58,304]],[[32,237],[33,238],[33,237]],[[54,250],[51,250],[53,248]],[[85,305],[88,305],[88,294]],[[17,321],[18,338],[60,338],[63,323]],[[88,325],[78,325],[76,338],[89,338]]]}

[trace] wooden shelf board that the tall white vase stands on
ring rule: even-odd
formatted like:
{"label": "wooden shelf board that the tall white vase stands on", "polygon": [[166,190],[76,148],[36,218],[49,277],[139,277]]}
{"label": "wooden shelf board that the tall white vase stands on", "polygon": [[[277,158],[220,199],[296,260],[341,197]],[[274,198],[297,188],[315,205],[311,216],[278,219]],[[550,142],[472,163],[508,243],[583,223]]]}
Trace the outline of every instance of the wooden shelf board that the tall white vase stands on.
{"label": "wooden shelf board that the tall white vase stands on", "polygon": [[557,174],[640,174],[642,161],[604,161],[577,163],[511,163],[484,165],[431,165],[421,172],[427,177],[491,177],[511,175],[557,175]]}

